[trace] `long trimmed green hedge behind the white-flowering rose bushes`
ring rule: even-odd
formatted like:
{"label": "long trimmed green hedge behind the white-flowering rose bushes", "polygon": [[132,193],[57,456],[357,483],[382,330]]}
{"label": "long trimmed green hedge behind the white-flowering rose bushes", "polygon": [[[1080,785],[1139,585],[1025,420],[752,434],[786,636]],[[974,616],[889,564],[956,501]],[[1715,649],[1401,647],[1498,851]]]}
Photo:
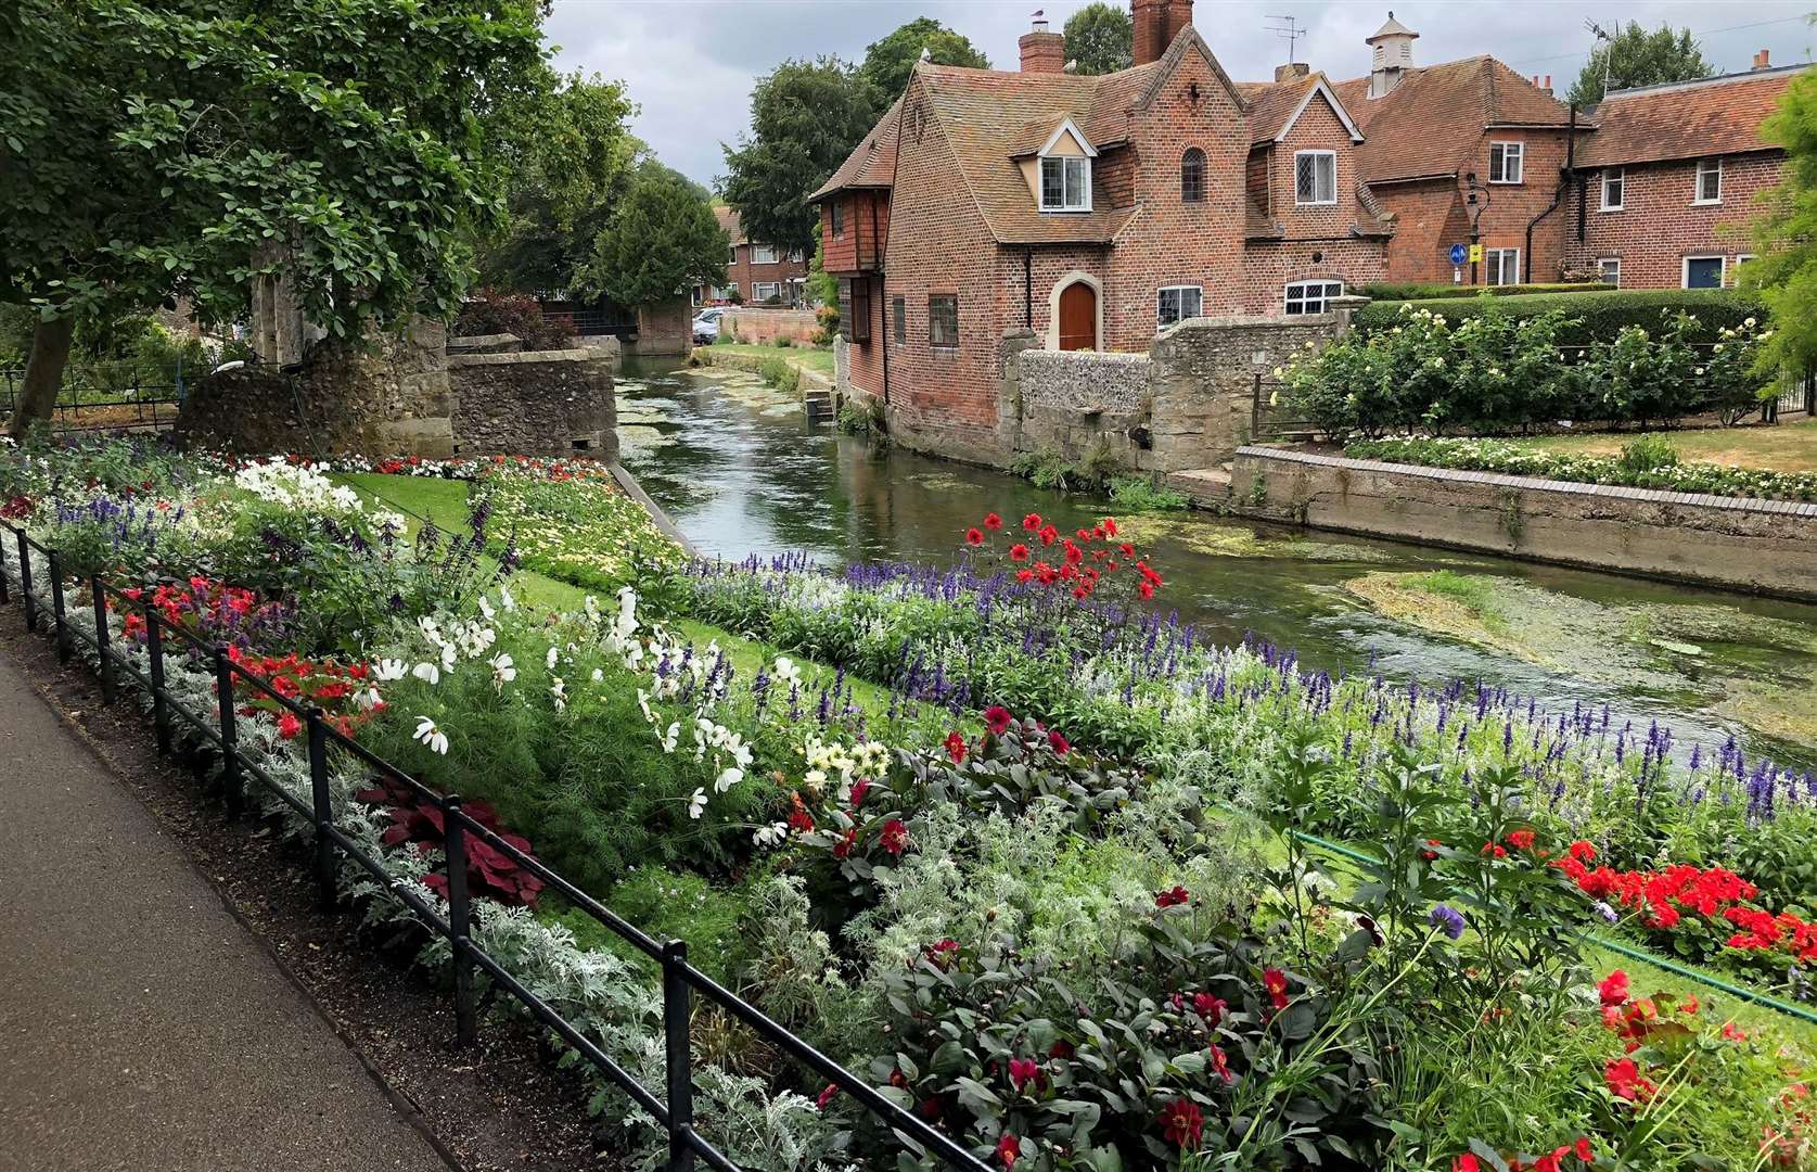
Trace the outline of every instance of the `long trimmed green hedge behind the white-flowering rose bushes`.
{"label": "long trimmed green hedge behind the white-flowering rose bushes", "polygon": [[[1392,329],[1399,323],[1405,303],[1372,302],[1357,313],[1355,327],[1365,334]],[[1559,309],[1566,318],[1577,318],[1575,323],[1559,333],[1559,342],[1566,345],[1608,342],[1628,325],[1657,331],[1663,313],[1681,309],[1697,320],[1697,329],[1688,342],[1715,342],[1721,329],[1741,329],[1748,318],[1764,323],[1772,316],[1766,302],[1752,289],[1610,289],[1603,296],[1575,293],[1477,294],[1415,300],[1414,303],[1454,322],[1474,318],[1490,305],[1514,320],[1537,318],[1546,311]]]}

